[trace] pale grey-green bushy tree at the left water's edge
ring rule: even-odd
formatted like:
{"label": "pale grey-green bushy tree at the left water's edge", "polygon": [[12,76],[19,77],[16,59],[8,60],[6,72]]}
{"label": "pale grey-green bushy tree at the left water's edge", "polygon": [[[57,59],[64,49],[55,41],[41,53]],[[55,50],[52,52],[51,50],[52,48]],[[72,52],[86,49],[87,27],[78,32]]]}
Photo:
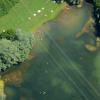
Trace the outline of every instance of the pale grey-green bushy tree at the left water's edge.
{"label": "pale grey-green bushy tree at the left water's edge", "polygon": [[5,71],[26,60],[32,49],[32,34],[25,34],[21,31],[17,31],[15,34],[17,37],[15,41],[7,38],[0,40],[0,71]]}

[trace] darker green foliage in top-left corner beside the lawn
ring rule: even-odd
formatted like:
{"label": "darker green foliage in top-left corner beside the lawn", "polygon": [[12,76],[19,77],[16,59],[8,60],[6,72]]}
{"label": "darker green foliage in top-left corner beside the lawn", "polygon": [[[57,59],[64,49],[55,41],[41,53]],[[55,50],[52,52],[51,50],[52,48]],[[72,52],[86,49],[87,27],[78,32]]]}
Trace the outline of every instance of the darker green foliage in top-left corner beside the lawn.
{"label": "darker green foliage in top-left corner beside the lawn", "polygon": [[19,0],[0,0],[0,16],[9,12],[9,10],[18,3]]}

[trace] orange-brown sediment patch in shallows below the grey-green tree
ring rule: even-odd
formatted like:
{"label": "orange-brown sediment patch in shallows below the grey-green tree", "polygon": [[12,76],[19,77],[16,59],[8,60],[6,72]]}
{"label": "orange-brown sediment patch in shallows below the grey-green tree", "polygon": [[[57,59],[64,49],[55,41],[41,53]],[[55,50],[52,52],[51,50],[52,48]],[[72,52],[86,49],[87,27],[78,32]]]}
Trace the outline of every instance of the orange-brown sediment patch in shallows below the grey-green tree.
{"label": "orange-brown sediment patch in shallows below the grey-green tree", "polygon": [[20,66],[16,67],[13,71],[11,70],[10,72],[7,72],[7,74],[2,76],[2,79],[7,84],[20,86],[27,69],[28,69],[28,64],[22,63]]}

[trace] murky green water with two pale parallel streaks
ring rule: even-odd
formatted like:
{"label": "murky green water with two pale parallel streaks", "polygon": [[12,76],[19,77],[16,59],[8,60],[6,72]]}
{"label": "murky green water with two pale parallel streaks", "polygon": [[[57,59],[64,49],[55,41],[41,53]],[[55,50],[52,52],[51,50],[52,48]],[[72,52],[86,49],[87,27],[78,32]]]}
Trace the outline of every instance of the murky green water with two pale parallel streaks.
{"label": "murky green water with two pale parallel streaks", "polygon": [[100,52],[85,50],[88,35],[75,39],[90,16],[86,4],[71,8],[34,35],[36,57],[27,61],[21,87],[6,87],[7,100],[100,100]]}

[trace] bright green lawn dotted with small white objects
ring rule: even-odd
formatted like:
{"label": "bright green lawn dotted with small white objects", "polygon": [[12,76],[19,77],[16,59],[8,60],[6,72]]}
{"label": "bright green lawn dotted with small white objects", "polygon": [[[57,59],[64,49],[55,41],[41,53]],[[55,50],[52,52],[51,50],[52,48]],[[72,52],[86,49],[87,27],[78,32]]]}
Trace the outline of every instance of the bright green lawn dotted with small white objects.
{"label": "bright green lawn dotted with small white objects", "polygon": [[[45,9],[41,10],[43,7]],[[50,0],[20,0],[6,16],[0,17],[0,31],[13,28],[32,32],[54,18],[63,7],[64,4],[54,4]],[[41,10],[41,13],[37,14],[37,10]],[[51,13],[51,10],[54,12]],[[33,16],[34,13],[37,16]]]}

